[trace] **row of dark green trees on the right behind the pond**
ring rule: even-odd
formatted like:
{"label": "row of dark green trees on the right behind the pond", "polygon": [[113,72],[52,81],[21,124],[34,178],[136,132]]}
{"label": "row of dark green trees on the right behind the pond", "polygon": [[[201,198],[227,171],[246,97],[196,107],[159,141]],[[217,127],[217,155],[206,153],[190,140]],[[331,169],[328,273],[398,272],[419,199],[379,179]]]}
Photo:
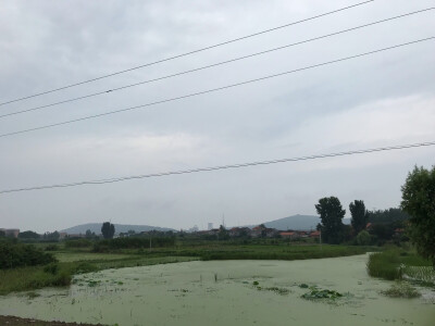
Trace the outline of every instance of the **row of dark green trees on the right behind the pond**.
{"label": "row of dark green trees on the right behind the pond", "polygon": [[[349,204],[351,225],[343,223],[346,210],[338,198],[325,197],[315,204],[321,223],[318,229],[326,243],[341,243],[353,239],[357,244],[378,244],[391,238],[410,240],[418,252],[431,260],[435,268],[435,166],[414,167],[401,187],[399,209],[385,211],[365,209],[362,200]],[[369,227],[368,227],[369,226]]]}

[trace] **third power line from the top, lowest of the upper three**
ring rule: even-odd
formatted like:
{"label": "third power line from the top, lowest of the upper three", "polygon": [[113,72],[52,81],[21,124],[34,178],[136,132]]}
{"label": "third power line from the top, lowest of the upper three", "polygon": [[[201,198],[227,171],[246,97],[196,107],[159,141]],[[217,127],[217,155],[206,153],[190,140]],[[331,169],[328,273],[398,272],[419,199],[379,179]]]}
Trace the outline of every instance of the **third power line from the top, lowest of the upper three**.
{"label": "third power line from the top, lowest of the upper three", "polygon": [[2,134],[2,135],[0,135],[0,138],[13,136],[13,135],[18,135],[18,134],[24,134],[24,133],[36,131],[36,130],[40,130],[40,129],[52,128],[52,127],[55,127],[55,126],[72,124],[72,123],[76,123],[76,122],[80,122],[80,121],[86,121],[86,120],[91,120],[91,118],[105,116],[105,115],[117,114],[117,113],[122,113],[122,112],[126,112],[126,111],[144,109],[144,108],[152,106],[152,105],[157,105],[157,104],[178,101],[178,100],[182,100],[182,99],[187,99],[187,98],[197,97],[197,96],[200,96],[200,95],[215,92],[215,91],[219,91],[219,90],[234,88],[234,87],[241,86],[241,85],[247,85],[247,84],[252,84],[252,83],[257,83],[257,82],[261,82],[261,80],[265,80],[265,79],[270,79],[270,78],[275,78],[275,77],[279,77],[279,76],[284,76],[284,75],[288,75],[288,74],[293,74],[293,73],[297,73],[297,72],[301,72],[301,71],[307,71],[307,70],[310,70],[310,68],[314,68],[314,67],[320,67],[320,66],[324,66],[324,65],[328,65],[328,64],[333,64],[333,63],[337,63],[337,62],[341,62],[341,61],[347,61],[347,60],[351,60],[351,59],[356,59],[356,58],[360,58],[360,57],[365,57],[365,55],[370,55],[370,54],[374,54],[374,53],[378,53],[378,52],[383,52],[383,51],[387,51],[387,50],[391,50],[391,49],[396,49],[396,48],[400,48],[400,47],[405,47],[405,46],[410,46],[410,45],[414,45],[414,43],[419,43],[419,42],[423,42],[423,41],[432,40],[432,39],[435,39],[435,37],[427,37],[427,38],[423,38],[423,39],[419,39],[419,40],[414,40],[414,41],[410,41],[410,42],[406,42],[406,43],[400,43],[400,45],[396,45],[396,46],[391,46],[391,47],[387,47],[387,48],[383,48],[383,49],[378,49],[378,50],[373,50],[373,51],[369,51],[369,52],[364,52],[364,53],[360,53],[360,54],[355,54],[355,55],[350,55],[350,57],[336,59],[336,60],[333,60],[333,61],[327,61],[327,62],[323,62],[323,63],[319,63],[319,64],[313,64],[313,65],[304,66],[304,67],[301,67],[301,68],[293,70],[293,71],[287,71],[287,72],[284,72],[284,73],[268,75],[268,76],[263,76],[263,77],[256,78],[256,79],[249,79],[249,80],[245,80],[245,82],[240,82],[240,83],[236,83],[236,84],[232,84],[232,85],[226,85],[226,86],[212,88],[212,89],[208,89],[208,90],[203,90],[203,91],[192,92],[192,93],[189,93],[189,95],[179,96],[179,97],[175,97],[175,98],[170,98],[170,99],[165,99],[165,100],[160,100],[160,101],[156,101],[156,102],[150,102],[150,103],[146,103],[146,104],[141,104],[141,105],[129,106],[129,108],[114,110],[114,111],[110,111],[110,112],[105,112],[105,113],[99,113],[99,114],[95,114],[95,115],[87,115],[87,116],[75,118],[75,120],[69,120],[69,121],[64,121],[64,122],[60,122],[60,123],[49,124],[49,125],[45,125],[45,126],[40,126],[40,127],[34,127],[34,128],[29,128],[29,129],[23,129],[23,130],[18,130],[18,131],[12,131],[12,133],[8,133],[8,134]]}

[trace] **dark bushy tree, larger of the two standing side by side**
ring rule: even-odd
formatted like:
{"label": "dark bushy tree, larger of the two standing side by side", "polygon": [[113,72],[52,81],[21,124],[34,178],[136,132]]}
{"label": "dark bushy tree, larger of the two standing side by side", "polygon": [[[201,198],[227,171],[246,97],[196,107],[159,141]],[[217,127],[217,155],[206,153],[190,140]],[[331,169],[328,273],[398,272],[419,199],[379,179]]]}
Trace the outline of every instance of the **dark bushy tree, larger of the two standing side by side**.
{"label": "dark bushy tree, larger of the two standing side by side", "polygon": [[319,199],[315,210],[321,218],[322,239],[327,243],[339,243],[343,241],[343,217],[346,210],[336,197]]}

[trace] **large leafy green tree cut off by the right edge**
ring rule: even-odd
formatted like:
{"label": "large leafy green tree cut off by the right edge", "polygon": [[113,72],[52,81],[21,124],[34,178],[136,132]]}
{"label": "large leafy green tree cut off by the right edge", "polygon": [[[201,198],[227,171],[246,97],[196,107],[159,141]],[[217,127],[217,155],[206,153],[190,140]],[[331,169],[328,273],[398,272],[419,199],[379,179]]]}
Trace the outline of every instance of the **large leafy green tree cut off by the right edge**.
{"label": "large leafy green tree cut off by the right edge", "polygon": [[401,187],[401,209],[411,215],[411,241],[435,269],[435,166],[415,166]]}

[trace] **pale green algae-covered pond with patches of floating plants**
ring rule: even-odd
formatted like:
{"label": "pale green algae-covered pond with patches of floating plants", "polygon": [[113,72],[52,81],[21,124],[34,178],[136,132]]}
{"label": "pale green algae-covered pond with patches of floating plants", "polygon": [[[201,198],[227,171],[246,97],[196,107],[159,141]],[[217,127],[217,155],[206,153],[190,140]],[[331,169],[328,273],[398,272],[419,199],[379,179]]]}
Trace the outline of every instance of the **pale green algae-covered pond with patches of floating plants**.
{"label": "pale green algae-covered pond with patches of floating plants", "polygon": [[[77,276],[69,289],[0,297],[0,314],[127,326],[434,325],[431,289],[417,299],[384,297],[393,283],[369,277],[365,262],[358,255],[107,269]],[[313,286],[343,297],[301,298]]]}

